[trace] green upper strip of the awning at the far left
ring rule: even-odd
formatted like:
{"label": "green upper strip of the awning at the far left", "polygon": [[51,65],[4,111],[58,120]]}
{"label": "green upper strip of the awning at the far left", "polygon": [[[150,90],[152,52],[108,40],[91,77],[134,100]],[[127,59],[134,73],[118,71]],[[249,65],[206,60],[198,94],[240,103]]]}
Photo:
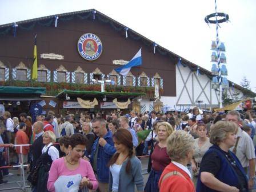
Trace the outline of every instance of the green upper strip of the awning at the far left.
{"label": "green upper strip of the awning at the far left", "polygon": [[0,86],[0,94],[33,94],[41,95],[45,94],[45,87],[12,87],[12,86]]}

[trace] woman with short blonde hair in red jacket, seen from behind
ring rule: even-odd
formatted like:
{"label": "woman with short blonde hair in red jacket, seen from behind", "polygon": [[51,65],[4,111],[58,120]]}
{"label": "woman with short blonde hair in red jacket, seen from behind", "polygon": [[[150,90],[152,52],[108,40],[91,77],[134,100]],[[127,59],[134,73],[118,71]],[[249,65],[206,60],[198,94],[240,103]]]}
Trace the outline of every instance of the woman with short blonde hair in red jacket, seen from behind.
{"label": "woman with short blonde hair in red jacket, seen from behind", "polygon": [[171,163],[165,167],[159,179],[160,191],[195,192],[187,164],[193,157],[193,137],[186,131],[174,131],[167,139],[167,154]]}

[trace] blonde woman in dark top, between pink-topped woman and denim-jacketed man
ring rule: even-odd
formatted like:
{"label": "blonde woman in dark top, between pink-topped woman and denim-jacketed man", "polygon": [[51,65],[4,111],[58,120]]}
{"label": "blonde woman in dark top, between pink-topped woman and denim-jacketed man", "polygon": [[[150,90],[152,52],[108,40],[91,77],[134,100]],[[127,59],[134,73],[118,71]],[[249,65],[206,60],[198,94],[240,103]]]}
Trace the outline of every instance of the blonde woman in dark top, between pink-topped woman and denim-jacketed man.
{"label": "blonde woman in dark top, between pink-topped woman and denim-jacketed man", "polygon": [[82,123],[82,134],[85,135],[85,137],[87,138],[85,155],[86,157],[90,157],[91,147],[93,147],[93,143],[95,139],[93,128],[91,127],[90,122]]}

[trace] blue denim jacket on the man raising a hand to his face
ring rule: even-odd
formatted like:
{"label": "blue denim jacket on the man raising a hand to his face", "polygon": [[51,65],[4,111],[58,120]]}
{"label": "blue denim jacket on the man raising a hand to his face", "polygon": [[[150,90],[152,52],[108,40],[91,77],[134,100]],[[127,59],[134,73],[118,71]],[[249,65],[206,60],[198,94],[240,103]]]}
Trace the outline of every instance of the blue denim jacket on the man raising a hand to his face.
{"label": "blue denim jacket on the man raising a hand to his face", "polygon": [[[114,148],[112,133],[110,131],[107,132],[107,134],[103,137],[103,139],[105,139],[107,143],[104,147],[99,145],[96,174],[99,182],[108,183],[109,167],[107,166],[107,163],[109,163],[110,158],[113,156],[116,150]],[[91,158],[90,158],[91,166],[93,166],[93,159],[97,150],[98,142],[99,142],[99,138],[97,138],[94,141],[93,147],[91,149]]]}

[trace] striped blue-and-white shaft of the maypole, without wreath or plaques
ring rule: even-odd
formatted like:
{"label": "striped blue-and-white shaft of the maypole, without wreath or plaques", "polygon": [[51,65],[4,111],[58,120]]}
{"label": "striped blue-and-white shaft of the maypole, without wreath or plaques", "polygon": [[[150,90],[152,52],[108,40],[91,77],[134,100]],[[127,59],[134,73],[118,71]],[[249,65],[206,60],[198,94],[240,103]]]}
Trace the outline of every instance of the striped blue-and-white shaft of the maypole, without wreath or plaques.
{"label": "striped blue-and-white shaft of the maypole, without wreath or plaques", "polygon": [[218,13],[217,13],[217,0],[215,0],[215,19],[216,19],[216,42],[217,42],[217,62],[218,62],[218,81],[219,81],[219,108],[222,108],[222,77],[221,77],[221,54],[219,51],[219,31],[218,31]]}

